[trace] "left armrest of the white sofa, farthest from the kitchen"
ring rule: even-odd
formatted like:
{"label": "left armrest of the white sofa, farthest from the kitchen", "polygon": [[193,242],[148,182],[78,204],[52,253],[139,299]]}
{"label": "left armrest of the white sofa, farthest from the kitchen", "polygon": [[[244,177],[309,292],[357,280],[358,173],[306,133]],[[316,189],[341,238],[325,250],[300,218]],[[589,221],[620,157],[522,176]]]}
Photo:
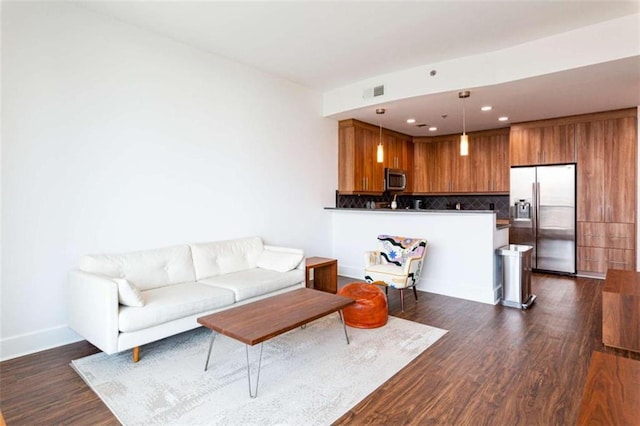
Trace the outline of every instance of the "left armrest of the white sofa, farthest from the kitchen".
{"label": "left armrest of the white sofa, farthest from the kitchen", "polygon": [[118,285],[109,277],[69,273],[69,327],[103,352],[118,352]]}

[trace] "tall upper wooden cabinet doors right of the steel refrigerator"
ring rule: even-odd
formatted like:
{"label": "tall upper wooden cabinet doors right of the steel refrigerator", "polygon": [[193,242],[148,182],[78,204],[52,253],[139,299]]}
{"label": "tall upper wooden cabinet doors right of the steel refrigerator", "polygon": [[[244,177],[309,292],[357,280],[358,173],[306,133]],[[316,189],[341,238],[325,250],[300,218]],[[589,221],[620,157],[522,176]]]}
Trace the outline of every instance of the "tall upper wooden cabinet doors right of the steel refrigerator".
{"label": "tall upper wooden cabinet doors right of the steel refrigerator", "polygon": [[576,124],[578,221],[635,223],[636,123],[613,116]]}

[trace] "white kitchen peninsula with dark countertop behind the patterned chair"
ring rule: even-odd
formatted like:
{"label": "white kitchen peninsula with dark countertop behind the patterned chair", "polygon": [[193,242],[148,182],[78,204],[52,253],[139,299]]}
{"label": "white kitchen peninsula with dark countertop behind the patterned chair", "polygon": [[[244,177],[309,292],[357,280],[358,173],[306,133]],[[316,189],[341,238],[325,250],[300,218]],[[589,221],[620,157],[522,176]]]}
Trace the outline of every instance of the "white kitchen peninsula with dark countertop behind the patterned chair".
{"label": "white kitchen peninsula with dark countertop behind the patterned chair", "polygon": [[495,250],[509,244],[509,228],[493,211],[339,209],[331,212],[332,257],[338,274],[364,279],[364,252],[380,234],[429,241],[418,290],[496,304],[501,272]]}

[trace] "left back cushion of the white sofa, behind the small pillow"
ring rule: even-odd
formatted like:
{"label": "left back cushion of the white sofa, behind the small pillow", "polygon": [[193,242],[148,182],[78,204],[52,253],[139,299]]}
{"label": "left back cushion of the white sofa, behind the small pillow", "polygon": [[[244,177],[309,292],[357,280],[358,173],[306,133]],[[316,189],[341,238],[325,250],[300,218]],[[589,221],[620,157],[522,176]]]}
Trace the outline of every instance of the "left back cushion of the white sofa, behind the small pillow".
{"label": "left back cushion of the white sofa, behind the small pillow", "polygon": [[139,290],[195,281],[188,245],[124,254],[82,256],[80,269],[112,278],[126,278]]}

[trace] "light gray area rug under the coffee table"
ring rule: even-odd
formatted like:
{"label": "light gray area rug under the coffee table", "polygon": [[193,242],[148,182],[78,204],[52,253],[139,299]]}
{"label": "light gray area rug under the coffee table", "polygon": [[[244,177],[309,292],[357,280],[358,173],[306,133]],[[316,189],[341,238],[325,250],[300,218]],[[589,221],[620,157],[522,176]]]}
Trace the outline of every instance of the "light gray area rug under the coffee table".
{"label": "light gray area rug under the coffee table", "polygon": [[347,330],[349,345],[336,313],[265,342],[255,399],[244,344],[218,335],[204,371],[205,328],[144,346],[137,364],[131,351],[71,364],[125,425],[326,425],[447,332],[395,317]]}

